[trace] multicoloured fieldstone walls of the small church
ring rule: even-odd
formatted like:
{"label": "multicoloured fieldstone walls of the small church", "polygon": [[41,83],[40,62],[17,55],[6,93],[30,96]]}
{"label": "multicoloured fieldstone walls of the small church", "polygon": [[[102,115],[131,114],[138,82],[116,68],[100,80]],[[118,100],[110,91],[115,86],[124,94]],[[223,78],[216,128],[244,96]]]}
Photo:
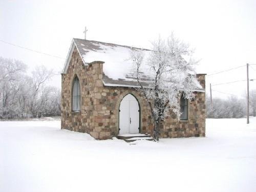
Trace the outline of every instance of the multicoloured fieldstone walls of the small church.
{"label": "multicoloured fieldstone walls of the small church", "polygon": [[[154,124],[146,100],[133,88],[104,87],[103,62],[84,66],[75,49],[67,74],[61,76],[61,129],[89,133],[96,139],[109,139],[119,133],[119,105],[126,94],[133,94],[140,105],[140,133],[153,134]],[[81,90],[81,111],[72,112],[72,84],[78,77]],[[199,81],[205,87],[204,75]],[[205,93],[196,92],[188,104],[188,120],[178,121],[175,115],[161,125],[163,138],[205,136]]]}

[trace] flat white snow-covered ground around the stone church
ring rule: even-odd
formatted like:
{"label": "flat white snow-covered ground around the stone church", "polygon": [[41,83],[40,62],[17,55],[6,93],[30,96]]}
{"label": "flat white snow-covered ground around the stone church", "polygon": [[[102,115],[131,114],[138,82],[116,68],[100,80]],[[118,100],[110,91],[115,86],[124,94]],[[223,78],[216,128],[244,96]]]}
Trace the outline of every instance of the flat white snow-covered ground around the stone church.
{"label": "flat white snow-covered ground around the stone church", "polygon": [[256,191],[256,118],[205,138],[97,141],[60,121],[0,122],[0,191]]}

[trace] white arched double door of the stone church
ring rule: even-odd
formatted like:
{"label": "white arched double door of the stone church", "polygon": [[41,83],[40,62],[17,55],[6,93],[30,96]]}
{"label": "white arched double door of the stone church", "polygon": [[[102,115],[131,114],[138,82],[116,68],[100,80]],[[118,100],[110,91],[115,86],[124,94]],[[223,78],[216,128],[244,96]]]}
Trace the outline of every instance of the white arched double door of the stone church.
{"label": "white arched double door of the stone church", "polygon": [[119,134],[139,133],[139,124],[139,103],[132,94],[127,94],[119,107]]}

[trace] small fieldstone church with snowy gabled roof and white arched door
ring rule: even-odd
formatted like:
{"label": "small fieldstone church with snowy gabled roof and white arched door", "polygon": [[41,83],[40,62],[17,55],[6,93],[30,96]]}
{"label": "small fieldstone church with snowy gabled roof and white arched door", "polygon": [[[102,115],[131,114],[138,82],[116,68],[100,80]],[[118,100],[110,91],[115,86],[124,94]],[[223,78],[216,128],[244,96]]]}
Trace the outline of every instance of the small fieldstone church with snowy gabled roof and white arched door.
{"label": "small fieldstone church with snowy gabled roof and white arched door", "polygon": [[[61,74],[61,129],[95,139],[153,135],[150,107],[128,59],[130,47],[74,38]],[[150,51],[150,50],[145,50]],[[197,74],[195,99],[180,98],[182,115],[166,117],[161,138],[205,136],[205,74]]]}

